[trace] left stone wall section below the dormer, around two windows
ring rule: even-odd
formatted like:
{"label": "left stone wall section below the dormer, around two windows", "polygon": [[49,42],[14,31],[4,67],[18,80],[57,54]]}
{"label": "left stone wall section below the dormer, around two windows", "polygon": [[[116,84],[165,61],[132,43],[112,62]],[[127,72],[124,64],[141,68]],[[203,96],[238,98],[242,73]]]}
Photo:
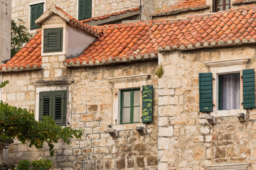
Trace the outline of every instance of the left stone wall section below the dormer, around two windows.
{"label": "left stone wall section below the dormer, around two windows", "polygon": [[[71,145],[59,142],[55,156],[50,157],[48,147],[29,148],[16,141],[9,147],[9,161],[17,164],[21,159],[48,158],[55,169],[156,169],[157,167],[157,77],[156,61],[118,64],[101,67],[63,67],[63,56],[43,57],[43,70],[4,73],[3,81],[9,79],[2,99],[12,106],[36,109],[38,91],[58,90],[65,86],[33,85],[37,80],[73,79],[68,89],[68,118],[72,128],[84,128],[81,140]],[[154,122],[145,125],[147,134],[139,135],[137,125],[119,125],[119,137],[110,137],[108,125],[112,122],[113,84],[108,78],[150,74],[146,84],[154,85]],[[15,88],[14,88],[15,86]],[[36,118],[37,118],[36,111]],[[144,124],[143,124],[144,125]]]}

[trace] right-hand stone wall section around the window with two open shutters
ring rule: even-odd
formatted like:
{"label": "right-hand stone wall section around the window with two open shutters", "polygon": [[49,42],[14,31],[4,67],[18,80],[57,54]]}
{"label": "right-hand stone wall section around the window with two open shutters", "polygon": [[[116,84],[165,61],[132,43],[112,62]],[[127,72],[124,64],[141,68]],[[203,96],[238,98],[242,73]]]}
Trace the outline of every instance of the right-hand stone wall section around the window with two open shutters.
{"label": "right-hand stone wall section around the window with two open shutters", "polygon": [[[230,47],[161,52],[159,64],[164,75],[159,79],[159,169],[205,169],[215,164],[255,164],[256,109],[199,113],[198,73],[232,72],[255,68],[254,47]],[[208,67],[205,62],[250,58],[247,64]],[[216,106],[216,82],[213,80],[213,104]],[[240,122],[236,113],[249,117]],[[214,115],[209,125],[207,115]]]}

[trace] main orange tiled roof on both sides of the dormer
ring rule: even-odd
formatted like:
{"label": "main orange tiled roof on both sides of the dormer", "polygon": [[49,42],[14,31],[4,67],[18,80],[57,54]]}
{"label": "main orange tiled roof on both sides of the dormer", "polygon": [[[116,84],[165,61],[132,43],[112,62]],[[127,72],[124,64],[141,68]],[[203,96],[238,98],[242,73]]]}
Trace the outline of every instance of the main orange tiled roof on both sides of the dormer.
{"label": "main orange tiled roof on both sides of the dormer", "polygon": [[[104,34],[92,42],[82,55],[65,60],[67,67],[94,66],[148,60],[157,51],[193,50],[256,42],[254,6],[209,13],[174,21],[96,26]],[[41,67],[41,33],[35,35],[0,72]]]}

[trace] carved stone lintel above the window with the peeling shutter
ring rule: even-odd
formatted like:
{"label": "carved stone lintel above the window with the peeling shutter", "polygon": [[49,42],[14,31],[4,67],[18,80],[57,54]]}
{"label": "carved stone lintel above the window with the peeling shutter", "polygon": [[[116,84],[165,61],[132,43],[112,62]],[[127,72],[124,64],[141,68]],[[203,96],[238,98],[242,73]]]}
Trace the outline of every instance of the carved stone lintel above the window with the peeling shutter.
{"label": "carved stone lintel above the window with the peeling shutter", "polygon": [[125,82],[132,82],[132,81],[144,81],[148,79],[149,74],[143,75],[135,75],[135,76],[127,76],[127,77],[115,77],[108,79],[112,84],[116,83],[125,83]]}

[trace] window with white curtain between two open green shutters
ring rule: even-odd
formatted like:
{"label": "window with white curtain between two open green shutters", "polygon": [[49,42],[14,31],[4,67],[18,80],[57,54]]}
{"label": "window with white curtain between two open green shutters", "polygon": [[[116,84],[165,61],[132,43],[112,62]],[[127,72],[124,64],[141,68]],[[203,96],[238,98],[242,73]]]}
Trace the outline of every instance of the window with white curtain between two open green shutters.
{"label": "window with white curtain between two open green shutters", "polygon": [[218,76],[219,110],[240,108],[240,73]]}

